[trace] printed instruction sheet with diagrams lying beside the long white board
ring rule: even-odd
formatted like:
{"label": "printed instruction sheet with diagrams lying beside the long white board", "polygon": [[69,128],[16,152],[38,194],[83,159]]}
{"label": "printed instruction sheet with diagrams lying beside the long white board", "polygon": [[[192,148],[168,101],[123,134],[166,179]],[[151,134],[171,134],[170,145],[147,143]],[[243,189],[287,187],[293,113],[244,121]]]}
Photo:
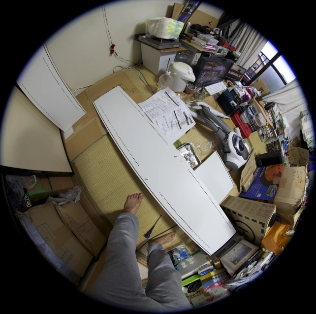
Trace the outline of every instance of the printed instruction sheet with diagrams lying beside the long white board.
{"label": "printed instruction sheet with diagrams lying beside the long white board", "polygon": [[170,88],[162,89],[138,105],[171,143],[195,125],[190,109]]}

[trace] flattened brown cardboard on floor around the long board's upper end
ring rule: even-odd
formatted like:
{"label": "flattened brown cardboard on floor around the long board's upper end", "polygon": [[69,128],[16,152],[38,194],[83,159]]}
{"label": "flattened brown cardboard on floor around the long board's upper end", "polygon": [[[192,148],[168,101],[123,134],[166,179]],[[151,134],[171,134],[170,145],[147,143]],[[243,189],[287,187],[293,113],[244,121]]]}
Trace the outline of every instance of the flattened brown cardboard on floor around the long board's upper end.
{"label": "flattened brown cardboard on floor around the long board's upper end", "polygon": [[93,102],[117,86],[120,86],[137,104],[144,101],[138,89],[122,71],[106,76],[80,93],[76,98],[87,113],[72,126],[69,133],[63,133],[70,161],[107,134]]}

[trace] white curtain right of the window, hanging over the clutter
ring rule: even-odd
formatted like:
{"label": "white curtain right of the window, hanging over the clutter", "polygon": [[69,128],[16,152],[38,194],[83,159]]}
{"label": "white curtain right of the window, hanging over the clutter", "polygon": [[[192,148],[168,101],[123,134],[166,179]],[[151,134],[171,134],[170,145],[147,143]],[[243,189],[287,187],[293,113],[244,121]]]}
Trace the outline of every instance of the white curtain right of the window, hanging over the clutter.
{"label": "white curtain right of the window, hanging over the clutter", "polygon": [[300,112],[308,109],[304,92],[295,78],[278,91],[263,97],[265,102],[275,102],[283,117],[286,118],[290,129],[290,141],[300,139]]}

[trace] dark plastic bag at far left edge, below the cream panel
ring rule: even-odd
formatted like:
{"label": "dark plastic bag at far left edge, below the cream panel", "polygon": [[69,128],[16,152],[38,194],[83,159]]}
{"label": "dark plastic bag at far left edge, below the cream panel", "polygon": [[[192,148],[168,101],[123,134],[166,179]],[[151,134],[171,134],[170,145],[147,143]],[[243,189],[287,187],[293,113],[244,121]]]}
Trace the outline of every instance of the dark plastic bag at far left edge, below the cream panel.
{"label": "dark plastic bag at far left edge, below the cream panel", "polygon": [[20,210],[23,202],[23,189],[32,189],[36,184],[36,176],[6,175],[7,198],[14,210]]}

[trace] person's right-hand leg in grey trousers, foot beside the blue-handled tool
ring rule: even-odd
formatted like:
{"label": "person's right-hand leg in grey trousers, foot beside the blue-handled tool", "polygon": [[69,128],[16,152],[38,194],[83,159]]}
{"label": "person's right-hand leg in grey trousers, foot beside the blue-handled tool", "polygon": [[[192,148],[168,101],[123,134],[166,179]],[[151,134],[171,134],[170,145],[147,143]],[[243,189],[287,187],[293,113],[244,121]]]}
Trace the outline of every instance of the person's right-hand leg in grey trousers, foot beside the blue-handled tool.
{"label": "person's right-hand leg in grey trousers, foot beside the blue-handled tool", "polygon": [[182,291],[181,275],[175,270],[162,244],[171,242],[175,232],[153,240],[147,247],[148,283],[146,295],[159,302],[165,312],[190,310],[190,302]]}

